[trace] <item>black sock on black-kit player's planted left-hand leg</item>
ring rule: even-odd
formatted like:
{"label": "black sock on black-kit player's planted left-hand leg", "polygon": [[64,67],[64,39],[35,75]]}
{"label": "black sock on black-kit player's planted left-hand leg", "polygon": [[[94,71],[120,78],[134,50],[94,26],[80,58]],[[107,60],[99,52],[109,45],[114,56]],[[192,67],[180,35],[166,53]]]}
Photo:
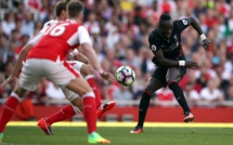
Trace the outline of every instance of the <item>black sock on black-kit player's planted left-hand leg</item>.
{"label": "black sock on black-kit player's planted left-hand leg", "polygon": [[139,121],[138,121],[138,126],[143,128],[143,123],[145,120],[145,116],[147,113],[147,108],[150,105],[150,100],[151,100],[152,94],[144,92],[142,95],[142,98],[140,101],[140,105],[139,105]]}

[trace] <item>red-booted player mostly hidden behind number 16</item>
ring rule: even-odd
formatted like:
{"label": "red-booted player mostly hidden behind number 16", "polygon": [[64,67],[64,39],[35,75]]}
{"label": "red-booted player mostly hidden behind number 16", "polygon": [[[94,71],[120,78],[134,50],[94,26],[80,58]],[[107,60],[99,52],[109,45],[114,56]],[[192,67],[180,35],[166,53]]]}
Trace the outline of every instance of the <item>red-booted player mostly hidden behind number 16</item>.
{"label": "red-booted player mostly hidden behind number 16", "polygon": [[[65,8],[65,6],[63,6],[63,8]],[[34,40],[31,40],[29,42],[31,45],[35,45],[40,40],[40,38],[43,36],[43,32],[47,29],[47,27],[52,26],[52,25],[59,23],[60,21],[65,21],[66,19],[66,11],[65,11],[65,9],[61,9],[61,6],[57,6],[57,5],[56,5],[55,9],[57,10],[56,11],[57,19],[52,19],[52,21],[46,23],[44,26],[43,26],[43,29],[39,32],[39,35]],[[62,12],[64,14],[63,17],[61,16]],[[83,37],[83,39],[87,39],[87,38],[88,37]],[[86,41],[86,40],[83,40],[83,41]],[[83,54],[79,53],[77,49],[72,51],[69,54],[72,56],[75,56],[76,60],[81,61],[81,62],[79,62],[79,61],[68,61],[68,63],[77,71],[81,72],[81,75],[89,82],[90,87],[93,89],[94,94],[95,94],[96,108],[98,108],[96,114],[98,114],[98,117],[101,118],[104,115],[105,111],[114,108],[116,103],[114,101],[108,102],[106,104],[101,103],[100,91],[99,91],[99,89],[98,89],[98,87],[95,84],[95,80],[94,80],[94,69],[93,69],[93,67],[91,67],[89,65],[89,60]],[[85,62],[86,64],[83,64],[82,62]],[[74,93],[73,91],[70,91],[70,90],[68,90],[66,88],[62,88],[62,90],[63,90],[66,98],[69,100],[69,101],[73,101],[74,98],[78,97],[78,94]],[[40,119],[38,121],[38,126],[40,127],[41,130],[43,130],[43,132],[47,135],[52,134],[52,131],[51,131],[52,123],[59,122],[59,121],[62,121],[62,120],[66,120],[66,119],[73,117],[74,115],[76,115],[76,114],[78,114],[78,113],[80,113],[82,110],[81,100],[79,100],[79,101],[80,102],[79,102],[79,107],[78,108],[76,108],[76,107],[74,107],[72,105],[64,106],[57,113],[54,113],[54,114],[52,114],[52,115],[50,115],[48,117],[44,117],[44,118]]]}

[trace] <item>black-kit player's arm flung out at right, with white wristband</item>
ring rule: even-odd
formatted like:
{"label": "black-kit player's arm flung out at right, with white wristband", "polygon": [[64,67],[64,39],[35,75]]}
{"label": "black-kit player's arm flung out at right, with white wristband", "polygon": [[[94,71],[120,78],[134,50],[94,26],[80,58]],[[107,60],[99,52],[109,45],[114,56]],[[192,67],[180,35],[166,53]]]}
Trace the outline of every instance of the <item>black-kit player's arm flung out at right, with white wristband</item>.
{"label": "black-kit player's arm flung out at right, with white wristband", "polygon": [[187,18],[192,25],[192,27],[198,32],[199,37],[200,37],[200,40],[203,42],[203,48],[208,51],[209,50],[209,45],[210,45],[210,42],[209,40],[206,38],[206,36],[203,34],[203,30],[199,26],[199,24],[197,23],[196,18],[194,17],[189,17]]}

